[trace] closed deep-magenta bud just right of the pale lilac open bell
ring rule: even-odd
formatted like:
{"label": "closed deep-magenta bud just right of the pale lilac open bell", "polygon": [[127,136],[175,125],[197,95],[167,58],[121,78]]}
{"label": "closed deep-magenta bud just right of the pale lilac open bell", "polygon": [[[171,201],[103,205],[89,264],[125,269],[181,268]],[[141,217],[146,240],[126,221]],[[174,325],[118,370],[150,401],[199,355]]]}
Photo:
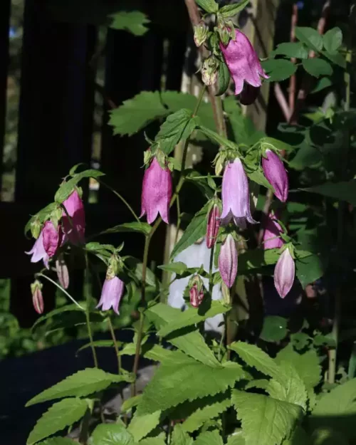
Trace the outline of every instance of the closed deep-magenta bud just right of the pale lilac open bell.
{"label": "closed deep-magenta bud just right of the pale lilac open bell", "polygon": [[266,157],[262,157],[262,168],[276,197],[280,201],[286,202],[289,191],[288,174],[281,159],[272,150],[266,150]]}

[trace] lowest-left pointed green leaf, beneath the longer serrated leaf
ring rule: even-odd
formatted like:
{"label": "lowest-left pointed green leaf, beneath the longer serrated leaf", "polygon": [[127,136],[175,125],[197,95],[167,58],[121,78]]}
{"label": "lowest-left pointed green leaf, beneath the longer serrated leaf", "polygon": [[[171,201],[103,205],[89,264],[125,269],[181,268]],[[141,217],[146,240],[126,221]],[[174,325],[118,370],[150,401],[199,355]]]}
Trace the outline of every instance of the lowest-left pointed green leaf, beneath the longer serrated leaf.
{"label": "lowest-left pointed green leaf, beneath the longer serrated leaf", "polygon": [[83,399],[70,397],[57,402],[46,411],[28,436],[27,445],[36,444],[41,439],[61,431],[66,426],[73,425],[81,419],[88,409],[88,404]]}

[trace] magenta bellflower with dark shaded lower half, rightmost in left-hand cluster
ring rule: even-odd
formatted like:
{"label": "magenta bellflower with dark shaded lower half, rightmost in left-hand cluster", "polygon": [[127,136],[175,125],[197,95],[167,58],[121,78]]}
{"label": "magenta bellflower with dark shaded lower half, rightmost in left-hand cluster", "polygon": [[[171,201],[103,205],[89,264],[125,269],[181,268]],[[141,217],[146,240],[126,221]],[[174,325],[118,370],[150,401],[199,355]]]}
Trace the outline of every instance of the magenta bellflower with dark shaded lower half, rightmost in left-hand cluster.
{"label": "magenta bellflower with dark shaded lower half, rightmost in left-hand cluster", "polygon": [[84,244],[85,243],[85,211],[83,201],[76,190],[70,194],[70,197],[63,202],[63,206],[66,207],[66,211],[62,214],[63,231],[72,244]]}

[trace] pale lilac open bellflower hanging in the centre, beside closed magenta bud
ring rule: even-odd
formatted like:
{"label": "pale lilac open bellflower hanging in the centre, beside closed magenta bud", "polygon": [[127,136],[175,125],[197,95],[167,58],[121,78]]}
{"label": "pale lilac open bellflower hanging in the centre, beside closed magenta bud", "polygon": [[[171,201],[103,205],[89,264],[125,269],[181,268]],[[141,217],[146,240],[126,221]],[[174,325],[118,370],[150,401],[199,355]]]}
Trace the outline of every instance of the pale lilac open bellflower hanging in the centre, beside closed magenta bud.
{"label": "pale lilac open bellflower hanging in the centre, beside closed magenta bud", "polygon": [[236,226],[246,228],[246,219],[251,224],[256,221],[251,216],[248,180],[241,160],[226,165],[222,180],[222,224],[226,226],[234,219]]}

